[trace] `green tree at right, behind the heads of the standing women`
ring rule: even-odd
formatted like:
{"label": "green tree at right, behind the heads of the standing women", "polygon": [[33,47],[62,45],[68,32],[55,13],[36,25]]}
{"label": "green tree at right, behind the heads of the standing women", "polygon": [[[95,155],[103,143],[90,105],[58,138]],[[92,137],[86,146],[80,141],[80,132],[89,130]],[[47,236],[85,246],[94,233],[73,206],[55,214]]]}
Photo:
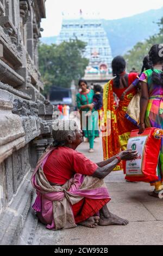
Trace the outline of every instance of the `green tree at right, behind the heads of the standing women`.
{"label": "green tree at right, behind the heads of the standing women", "polygon": [[127,70],[135,68],[136,71],[140,72],[142,67],[142,60],[148,54],[150,48],[154,44],[163,43],[163,17],[158,23],[160,27],[159,34],[150,36],[149,39],[144,42],[138,42],[127,54],[124,55],[124,58],[127,61]]}

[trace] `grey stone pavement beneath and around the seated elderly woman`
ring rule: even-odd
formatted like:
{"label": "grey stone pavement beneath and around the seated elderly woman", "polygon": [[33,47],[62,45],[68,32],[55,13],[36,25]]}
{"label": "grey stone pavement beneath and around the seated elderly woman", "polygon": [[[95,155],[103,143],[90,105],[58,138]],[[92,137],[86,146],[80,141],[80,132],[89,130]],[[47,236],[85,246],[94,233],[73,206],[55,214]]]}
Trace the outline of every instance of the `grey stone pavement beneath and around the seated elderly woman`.
{"label": "grey stone pavement beneath and around the seated elderly woman", "polygon": [[[95,153],[87,153],[88,143],[79,146],[92,161],[102,161],[101,139],[96,139]],[[130,222],[127,226],[107,226],[48,230],[37,225],[34,245],[163,245],[163,200],[148,196],[153,188],[143,182],[124,180],[123,172],[113,172],[105,178],[112,200],[109,210]]]}

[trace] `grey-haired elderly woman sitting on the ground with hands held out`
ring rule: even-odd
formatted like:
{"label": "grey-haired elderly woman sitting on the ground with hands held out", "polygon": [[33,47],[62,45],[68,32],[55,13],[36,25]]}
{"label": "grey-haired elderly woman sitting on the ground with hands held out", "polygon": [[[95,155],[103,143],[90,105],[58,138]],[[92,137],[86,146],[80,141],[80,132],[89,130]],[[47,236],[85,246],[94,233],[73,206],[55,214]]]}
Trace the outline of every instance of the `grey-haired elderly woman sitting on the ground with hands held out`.
{"label": "grey-haired elderly woman sitting on the ground with hands held out", "polygon": [[75,121],[59,120],[54,126],[53,145],[41,156],[32,176],[37,192],[33,208],[39,220],[55,230],[77,224],[89,228],[128,224],[109,212],[106,204],[111,198],[103,178],[121,160],[134,159],[137,152],[122,151],[111,159],[93,163],[76,151],[83,135]]}

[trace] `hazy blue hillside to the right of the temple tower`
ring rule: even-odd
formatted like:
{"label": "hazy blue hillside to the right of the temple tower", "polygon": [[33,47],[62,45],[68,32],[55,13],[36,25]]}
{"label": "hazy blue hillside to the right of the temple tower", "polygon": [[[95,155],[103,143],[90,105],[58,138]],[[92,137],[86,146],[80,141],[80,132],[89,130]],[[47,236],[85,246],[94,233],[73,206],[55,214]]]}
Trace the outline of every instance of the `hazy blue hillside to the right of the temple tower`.
{"label": "hazy blue hillside to the right of the temple tower", "polygon": [[163,7],[118,20],[103,20],[103,27],[110,42],[112,56],[124,55],[137,42],[158,34],[157,22],[161,19],[162,13]]}

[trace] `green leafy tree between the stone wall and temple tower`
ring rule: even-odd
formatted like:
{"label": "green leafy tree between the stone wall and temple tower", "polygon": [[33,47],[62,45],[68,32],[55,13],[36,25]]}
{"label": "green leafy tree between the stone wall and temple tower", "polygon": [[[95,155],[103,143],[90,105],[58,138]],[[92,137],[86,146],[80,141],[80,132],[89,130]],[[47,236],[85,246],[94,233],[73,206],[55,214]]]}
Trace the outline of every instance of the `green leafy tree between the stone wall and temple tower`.
{"label": "green leafy tree between the stone wall and temple tower", "polygon": [[51,86],[70,87],[84,76],[89,60],[83,58],[85,42],[70,40],[60,45],[39,45],[39,68],[47,95]]}

